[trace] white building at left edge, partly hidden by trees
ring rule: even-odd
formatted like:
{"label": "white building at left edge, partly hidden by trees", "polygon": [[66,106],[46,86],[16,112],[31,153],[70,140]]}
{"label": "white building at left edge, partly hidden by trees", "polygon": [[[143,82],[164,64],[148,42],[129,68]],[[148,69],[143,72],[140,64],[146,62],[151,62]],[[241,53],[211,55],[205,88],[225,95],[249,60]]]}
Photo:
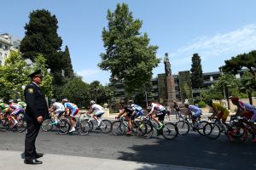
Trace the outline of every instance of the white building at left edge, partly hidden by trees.
{"label": "white building at left edge, partly hidden by trees", "polygon": [[4,65],[4,60],[9,56],[11,50],[19,48],[19,39],[15,39],[7,33],[0,34],[0,65]]}

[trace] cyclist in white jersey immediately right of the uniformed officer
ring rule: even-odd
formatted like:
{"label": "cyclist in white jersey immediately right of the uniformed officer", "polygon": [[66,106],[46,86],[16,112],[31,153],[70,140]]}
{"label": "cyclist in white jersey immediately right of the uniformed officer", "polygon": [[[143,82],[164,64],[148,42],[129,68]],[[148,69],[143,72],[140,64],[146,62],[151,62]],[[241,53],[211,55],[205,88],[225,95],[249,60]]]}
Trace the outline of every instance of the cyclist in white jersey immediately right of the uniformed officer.
{"label": "cyclist in white jersey immediately right of the uniformed officer", "polygon": [[53,116],[55,117],[55,122],[53,125],[58,124],[59,118],[61,115],[65,112],[64,105],[62,105],[60,102],[56,102],[56,99],[50,100],[51,106],[49,108],[49,112],[54,112]]}

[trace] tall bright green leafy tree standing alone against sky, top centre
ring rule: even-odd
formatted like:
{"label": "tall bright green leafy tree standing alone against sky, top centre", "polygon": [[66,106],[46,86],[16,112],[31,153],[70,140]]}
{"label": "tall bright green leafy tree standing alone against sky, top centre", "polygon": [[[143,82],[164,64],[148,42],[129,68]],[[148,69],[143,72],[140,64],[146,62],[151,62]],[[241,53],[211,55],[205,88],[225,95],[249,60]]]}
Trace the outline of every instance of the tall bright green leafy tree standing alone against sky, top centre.
{"label": "tall bright green leafy tree standing alone against sky, top centre", "polygon": [[160,63],[156,58],[157,46],[149,45],[146,33],[141,35],[141,20],[134,20],[128,5],[117,4],[113,13],[108,9],[108,28],[103,28],[102,40],[106,53],[102,53],[99,67],[111,71],[111,77],[125,85],[132,94],[150,82],[152,71]]}

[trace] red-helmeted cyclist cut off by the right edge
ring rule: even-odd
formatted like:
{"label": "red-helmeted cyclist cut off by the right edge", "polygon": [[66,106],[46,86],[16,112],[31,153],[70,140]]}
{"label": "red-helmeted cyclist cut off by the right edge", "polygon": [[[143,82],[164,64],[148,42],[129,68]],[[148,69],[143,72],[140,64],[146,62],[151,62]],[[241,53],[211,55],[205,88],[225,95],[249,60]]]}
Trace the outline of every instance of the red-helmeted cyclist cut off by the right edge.
{"label": "red-helmeted cyclist cut off by the right edge", "polygon": [[250,119],[250,121],[246,121],[247,125],[252,127],[253,129],[253,142],[256,142],[256,127],[254,122],[256,122],[256,108],[253,105],[244,103],[239,100],[239,98],[235,96],[230,97],[232,103],[237,106],[237,109],[241,112],[239,116],[243,116],[246,119]]}

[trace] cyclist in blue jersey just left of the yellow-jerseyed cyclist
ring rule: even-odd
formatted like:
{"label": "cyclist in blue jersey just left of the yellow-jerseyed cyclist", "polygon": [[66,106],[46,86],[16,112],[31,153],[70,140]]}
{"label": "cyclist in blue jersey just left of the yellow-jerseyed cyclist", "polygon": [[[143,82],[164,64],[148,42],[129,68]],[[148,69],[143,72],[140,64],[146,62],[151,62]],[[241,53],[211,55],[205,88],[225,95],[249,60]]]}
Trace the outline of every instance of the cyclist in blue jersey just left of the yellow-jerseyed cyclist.
{"label": "cyclist in blue jersey just left of the yellow-jerseyed cyclist", "polygon": [[189,116],[192,117],[192,124],[194,125],[193,129],[195,130],[195,128],[199,125],[197,118],[202,114],[201,108],[195,105],[189,105],[189,101],[185,101],[184,106],[188,109]]}

